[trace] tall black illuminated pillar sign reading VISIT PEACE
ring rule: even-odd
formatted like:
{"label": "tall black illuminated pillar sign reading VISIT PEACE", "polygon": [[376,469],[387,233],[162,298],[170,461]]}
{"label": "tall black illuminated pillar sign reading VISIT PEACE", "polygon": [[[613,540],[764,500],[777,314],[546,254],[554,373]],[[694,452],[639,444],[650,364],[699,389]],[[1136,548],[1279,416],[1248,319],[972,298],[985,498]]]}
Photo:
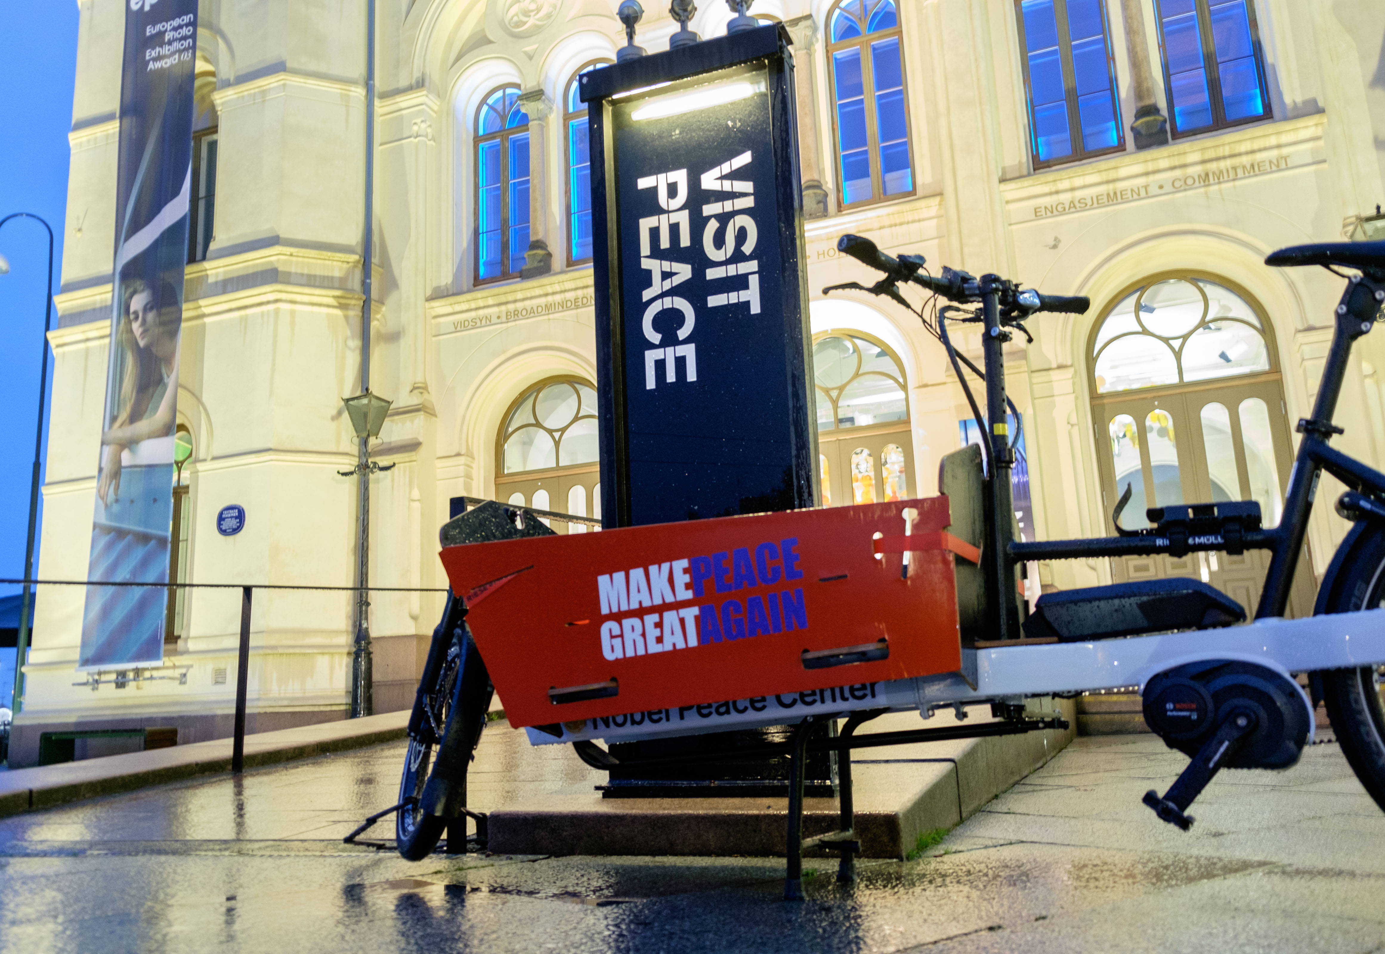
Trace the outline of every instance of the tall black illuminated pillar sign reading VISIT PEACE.
{"label": "tall black illuminated pillar sign reading VISIT PEACE", "polygon": [[582,75],[607,526],[817,503],[788,32]]}

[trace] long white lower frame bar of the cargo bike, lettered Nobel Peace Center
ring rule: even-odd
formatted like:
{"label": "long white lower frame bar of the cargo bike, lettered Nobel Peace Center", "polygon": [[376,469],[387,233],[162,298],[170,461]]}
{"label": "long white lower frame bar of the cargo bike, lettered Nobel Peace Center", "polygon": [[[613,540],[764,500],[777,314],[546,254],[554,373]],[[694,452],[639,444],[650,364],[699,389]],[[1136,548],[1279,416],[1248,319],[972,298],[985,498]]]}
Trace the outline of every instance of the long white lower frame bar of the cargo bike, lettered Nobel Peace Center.
{"label": "long white lower frame bar of the cargo bike, lettered Nobel Peace Center", "polygon": [[[1267,618],[1227,629],[1097,642],[964,649],[963,658],[963,673],[589,719],[576,731],[571,728],[573,723],[565,724],[560,737],[536,728],[526,731],[532,745],[553,745],[598,738],[630,742],[783,726],[805,714],[835,716],[861,709],[917,709],[927,719],[933,709],[953,703],[1018,701],[1126,685],[1136,685],[1143,692],[1156,673],[1206,659],[1252,662],[1284,676],[1357,669],[1385,665],[1385,609],[1306,619]],[[1303,701],[1307,703],[1306,696]]]}

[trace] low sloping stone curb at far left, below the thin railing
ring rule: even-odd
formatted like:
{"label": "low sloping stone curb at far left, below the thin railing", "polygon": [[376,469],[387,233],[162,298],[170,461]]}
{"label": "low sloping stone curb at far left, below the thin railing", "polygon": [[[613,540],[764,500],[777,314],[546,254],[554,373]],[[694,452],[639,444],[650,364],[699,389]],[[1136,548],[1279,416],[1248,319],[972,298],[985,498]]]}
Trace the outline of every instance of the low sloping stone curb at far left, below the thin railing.
{"label": "low sloping stone curb at far left, below the thin railing", "polygon": [[[342,752],[404,738],[409,712],[343,719],[245,737],[245,766]],[[64,762],[0,773],[0,817],[150,785],[229,773],[234,739]]]}

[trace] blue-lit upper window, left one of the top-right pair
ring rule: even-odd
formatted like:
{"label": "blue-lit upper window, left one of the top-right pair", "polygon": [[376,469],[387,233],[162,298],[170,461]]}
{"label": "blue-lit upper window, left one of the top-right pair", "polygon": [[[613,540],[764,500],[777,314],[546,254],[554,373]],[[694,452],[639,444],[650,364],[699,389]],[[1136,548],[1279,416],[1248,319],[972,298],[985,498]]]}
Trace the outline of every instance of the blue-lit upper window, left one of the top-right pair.
{"label": "blue-lit upper window, left one of the top-right pair", "polygon": [[1125,148],[1101,0],[1017,0],[1035,168]]}

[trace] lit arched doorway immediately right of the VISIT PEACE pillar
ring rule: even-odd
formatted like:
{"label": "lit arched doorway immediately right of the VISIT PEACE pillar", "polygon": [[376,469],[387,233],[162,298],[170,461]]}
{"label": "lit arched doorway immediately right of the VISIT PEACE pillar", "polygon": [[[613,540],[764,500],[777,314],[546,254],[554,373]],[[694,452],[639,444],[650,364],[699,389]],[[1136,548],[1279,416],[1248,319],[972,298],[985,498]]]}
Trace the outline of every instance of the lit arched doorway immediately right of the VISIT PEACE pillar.
{"label": "lit arched doorway immediately right of the VISIT PEACE pillar", "polygon": [[907,500],[913,471],[904,368],[861,331],[813,339],[823,504]]}

